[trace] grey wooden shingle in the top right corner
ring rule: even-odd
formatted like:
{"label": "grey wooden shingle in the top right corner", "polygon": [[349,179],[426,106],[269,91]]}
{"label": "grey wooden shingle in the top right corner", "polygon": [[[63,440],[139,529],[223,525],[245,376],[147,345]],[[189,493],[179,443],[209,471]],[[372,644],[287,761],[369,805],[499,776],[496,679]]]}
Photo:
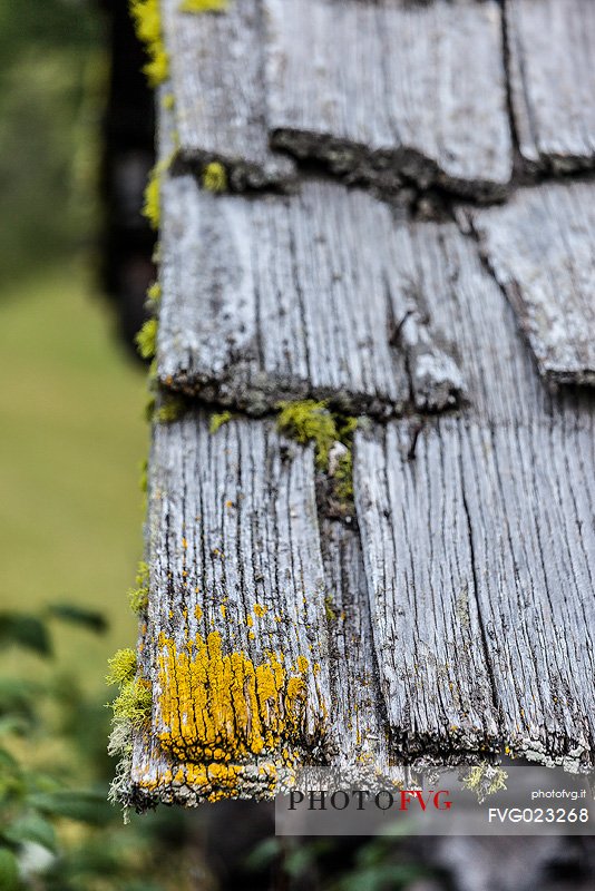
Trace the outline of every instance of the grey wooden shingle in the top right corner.
{"label": "grey wooden shingle in the top right corner", "polygon": [[592,0],[507,0],[509,84],[520,154],[556,173],[595,163]]}

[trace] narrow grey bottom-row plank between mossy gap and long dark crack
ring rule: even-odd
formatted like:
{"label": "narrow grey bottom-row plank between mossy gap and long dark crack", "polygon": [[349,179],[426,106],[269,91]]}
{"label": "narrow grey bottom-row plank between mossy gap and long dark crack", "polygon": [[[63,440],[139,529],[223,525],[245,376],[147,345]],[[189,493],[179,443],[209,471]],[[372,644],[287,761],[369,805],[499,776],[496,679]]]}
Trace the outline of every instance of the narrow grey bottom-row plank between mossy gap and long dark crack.
{"label": "narrow grey bottom-row plank between mossy gap and long dark crack", "polygon": [[[445,419],[446,421],[446,419]],[[354,484],[380,681],[401,757],[464,760],[494,748],[497,715],[481,646],[461,497],[458,421],[358,433]],[[445,468],[448,468],[446,471]],[[453,547],[455,545],[455,547]]]}

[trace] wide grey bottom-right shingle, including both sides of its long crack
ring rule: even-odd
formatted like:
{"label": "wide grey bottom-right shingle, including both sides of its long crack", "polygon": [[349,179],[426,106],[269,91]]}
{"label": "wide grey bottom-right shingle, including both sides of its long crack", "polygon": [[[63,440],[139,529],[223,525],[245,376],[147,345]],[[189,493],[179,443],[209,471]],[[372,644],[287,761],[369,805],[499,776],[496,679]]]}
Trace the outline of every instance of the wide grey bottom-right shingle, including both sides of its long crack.
{"label": "wide grey bottom-right shingle, including both sides of its long crack", "polygon": [[[595,761],[595,407],[355,441],[374,644],[406,753]],[[494,698],[496,709],[494,707]]]}

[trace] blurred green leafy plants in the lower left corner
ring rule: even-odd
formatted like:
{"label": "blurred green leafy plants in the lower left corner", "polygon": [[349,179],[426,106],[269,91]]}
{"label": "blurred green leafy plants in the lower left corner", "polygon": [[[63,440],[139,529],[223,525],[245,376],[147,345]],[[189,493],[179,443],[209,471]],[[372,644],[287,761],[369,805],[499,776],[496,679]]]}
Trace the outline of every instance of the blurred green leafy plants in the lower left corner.
{"label": "blurred green leafy plants in the lower left corner", "polygon": [[[52,652],[50,623],[105,630],[96,613],[59,605],[0,613],[3,646]],[[76,676],[46,666],[36,683],[0,683],[0,888],[2,891],[189,891],[196,866],[182,811],[123,826],[107,803],[108,716]],[[42,745],[40,745],[42,743]],[[77,756],[78,750],[78,756]]]}

